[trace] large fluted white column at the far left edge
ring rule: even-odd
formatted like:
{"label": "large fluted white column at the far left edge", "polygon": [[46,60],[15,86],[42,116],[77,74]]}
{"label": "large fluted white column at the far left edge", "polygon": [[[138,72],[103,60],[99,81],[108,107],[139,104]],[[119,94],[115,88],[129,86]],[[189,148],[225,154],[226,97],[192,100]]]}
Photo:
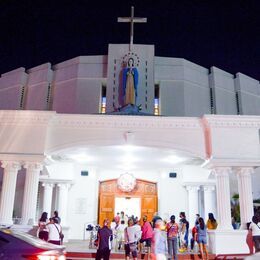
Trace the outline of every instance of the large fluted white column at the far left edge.
{"label": "large fluted white column at the far left edge", "polygon": [[0,201],[0,224],[13,224],[12,216],[14,209],[14,198],[17,173],[21,169],[19,162],[3,161],[4,177],[2,183],[2,193]]}

